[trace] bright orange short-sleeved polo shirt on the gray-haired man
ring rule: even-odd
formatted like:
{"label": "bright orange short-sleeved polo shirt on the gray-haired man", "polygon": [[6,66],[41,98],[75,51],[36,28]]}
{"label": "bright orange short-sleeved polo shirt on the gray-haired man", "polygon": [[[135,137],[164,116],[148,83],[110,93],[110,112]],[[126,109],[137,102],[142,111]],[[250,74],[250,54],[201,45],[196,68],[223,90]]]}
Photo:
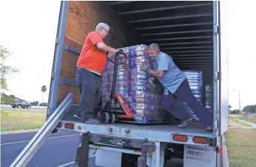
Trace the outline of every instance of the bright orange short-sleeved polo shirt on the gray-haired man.
{"label": "bright orange short-sleeved polo shirt on the gray-haired man", "polygon": [[95,44],[103,42],[101,35],[94,31],[87,35],[78,58],[77,67],[87,68],[102,73],[107,61],[107,53],[97,49]]}

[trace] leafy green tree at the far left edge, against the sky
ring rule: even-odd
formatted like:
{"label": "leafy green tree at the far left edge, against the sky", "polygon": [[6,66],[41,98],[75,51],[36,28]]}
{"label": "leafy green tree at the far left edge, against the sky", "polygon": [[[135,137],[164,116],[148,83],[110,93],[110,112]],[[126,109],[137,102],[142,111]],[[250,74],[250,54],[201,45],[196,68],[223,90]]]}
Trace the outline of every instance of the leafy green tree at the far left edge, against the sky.
{"label": "leafy green tree at the far left edge, against the sky", "polygon": [[9,65],[5,64],[5,61],[8,57],[11,56],[11,52],[9,49],[5,48],[3,45],[0,46],[0,56],[1,56],[1,90],[8,90],[7,87],[7,79],[12,76],[14,73],[19,73],[17,68],[13,68]]}

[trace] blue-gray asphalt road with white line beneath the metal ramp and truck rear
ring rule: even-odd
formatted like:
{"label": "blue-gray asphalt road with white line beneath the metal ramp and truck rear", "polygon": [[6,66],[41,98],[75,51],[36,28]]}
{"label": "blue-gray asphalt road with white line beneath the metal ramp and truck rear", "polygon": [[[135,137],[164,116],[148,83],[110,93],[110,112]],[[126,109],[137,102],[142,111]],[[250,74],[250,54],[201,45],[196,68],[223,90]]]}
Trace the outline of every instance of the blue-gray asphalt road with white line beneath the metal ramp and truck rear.
{"label": "blue-gray asphalt road with white line beneath the metal ramp and truck rear", "polygon": [[[35,134],[36,132],[25,132],[1,135],[1,167],[10,166]],[[68,131],[51,134],[27,164],[27,167],[76,167],[74,160],[79,137],[80,134],[77,132]],[[95,167],[93,155],[90,158],[89,166]],[[178,160],[172,162],[172,166],[182,167],[183,164],[181,160]]]}

